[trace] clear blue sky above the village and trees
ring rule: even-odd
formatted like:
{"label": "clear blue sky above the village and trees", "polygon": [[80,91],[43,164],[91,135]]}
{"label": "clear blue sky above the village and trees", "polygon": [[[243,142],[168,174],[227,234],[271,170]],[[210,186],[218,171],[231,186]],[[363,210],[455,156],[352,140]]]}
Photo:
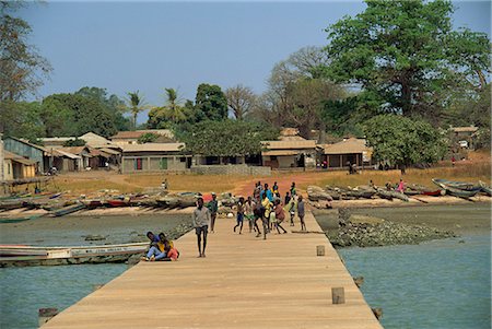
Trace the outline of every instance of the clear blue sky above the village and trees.
{"label": "clear blue sky above the village and trees", "polygon": [[[455,27],[490,35],[490,1],[454,4]],[[327,45],[328,25],[364,9],[362,1],[48,1],[20,15],[54,69],[37,98],[97,86],[120,97],[139,91],[161,106],[165,87],[183,101],[195,99],[200,83],[222,90],[241,83],[261,93],[274,63]],[[147,118],[140,114],[138,121]]]}

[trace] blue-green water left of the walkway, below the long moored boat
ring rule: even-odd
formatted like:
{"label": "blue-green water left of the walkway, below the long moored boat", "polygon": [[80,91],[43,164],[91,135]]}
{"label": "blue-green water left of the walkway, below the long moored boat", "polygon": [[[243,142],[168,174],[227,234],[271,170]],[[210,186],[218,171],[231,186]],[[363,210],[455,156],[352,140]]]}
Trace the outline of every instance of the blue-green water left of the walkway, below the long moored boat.
{"label": "blue-green water left of the walkway, below the long moored boat", "polygon": [[0,269],[0,328],[38,328],[39,308],[61,312],[127,268],[120,263]]}

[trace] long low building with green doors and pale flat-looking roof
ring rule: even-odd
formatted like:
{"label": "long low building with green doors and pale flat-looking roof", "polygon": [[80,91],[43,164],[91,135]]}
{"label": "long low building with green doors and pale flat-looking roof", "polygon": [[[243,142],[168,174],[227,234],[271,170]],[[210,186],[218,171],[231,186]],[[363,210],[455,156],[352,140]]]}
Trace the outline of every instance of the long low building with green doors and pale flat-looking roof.
{"label": "long low building with green doors and pale flat-looking roof", "polygon": [[121,173],[181,172],[191,167],[191,155],[181,153],[184,143],[122,145]]}

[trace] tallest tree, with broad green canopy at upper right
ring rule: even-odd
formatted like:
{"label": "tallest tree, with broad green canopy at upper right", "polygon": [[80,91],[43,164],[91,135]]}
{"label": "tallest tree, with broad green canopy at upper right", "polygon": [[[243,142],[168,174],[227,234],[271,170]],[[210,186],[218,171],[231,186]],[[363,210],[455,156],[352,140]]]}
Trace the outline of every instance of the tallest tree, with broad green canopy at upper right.
{"label": "tallest tree, with broad green canopy at upper right", "polygon": [[338,82],[361,84],[380,109],[436,121],[454,81],[471,71],[489,72],[487,35],[453,32],[450,1],[366,0],[366,4],[363,13],[326,30],[331,63],[325,72]]}

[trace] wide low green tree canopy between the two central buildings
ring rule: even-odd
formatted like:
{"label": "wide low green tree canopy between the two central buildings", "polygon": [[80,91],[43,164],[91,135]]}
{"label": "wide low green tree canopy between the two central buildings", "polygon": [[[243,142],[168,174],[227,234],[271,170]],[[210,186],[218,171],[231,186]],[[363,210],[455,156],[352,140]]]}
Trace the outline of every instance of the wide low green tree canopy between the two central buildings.
{"label": "wide low green tree canopy between the two central buildings", "polygon": [[263,140],[274,140],[279,131],[270,126],[225,119],[185,124],[176,131],[186,151],[213,156],[242,156],[259,154]]}

